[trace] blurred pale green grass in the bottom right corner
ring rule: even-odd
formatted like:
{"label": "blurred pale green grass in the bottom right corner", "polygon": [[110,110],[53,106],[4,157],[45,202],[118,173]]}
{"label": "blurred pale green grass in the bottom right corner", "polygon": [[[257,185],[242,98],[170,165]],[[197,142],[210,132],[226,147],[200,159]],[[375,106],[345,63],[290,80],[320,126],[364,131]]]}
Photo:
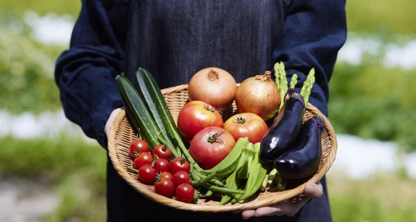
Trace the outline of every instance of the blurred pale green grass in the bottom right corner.
{"label": "blurred pale green grass in the bottom right corner", "polygon": [[333,221],[416,221],[415,180],[395,174],[351,180],[337,172],[327,181]]}

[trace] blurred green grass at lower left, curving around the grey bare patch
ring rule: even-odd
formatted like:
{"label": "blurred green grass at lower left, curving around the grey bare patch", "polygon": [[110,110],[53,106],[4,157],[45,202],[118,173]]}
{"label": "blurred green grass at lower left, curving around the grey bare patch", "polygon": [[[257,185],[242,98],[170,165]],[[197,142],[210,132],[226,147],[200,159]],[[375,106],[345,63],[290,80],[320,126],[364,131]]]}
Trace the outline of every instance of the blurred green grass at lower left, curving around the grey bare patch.
{"label": "blurred green grass at lower left, curving around the grey bare patch", "polygon": [[1,137],[0,175],[44,178],[60,199],[46,221],[105,221],[107,153],[80,138]]}

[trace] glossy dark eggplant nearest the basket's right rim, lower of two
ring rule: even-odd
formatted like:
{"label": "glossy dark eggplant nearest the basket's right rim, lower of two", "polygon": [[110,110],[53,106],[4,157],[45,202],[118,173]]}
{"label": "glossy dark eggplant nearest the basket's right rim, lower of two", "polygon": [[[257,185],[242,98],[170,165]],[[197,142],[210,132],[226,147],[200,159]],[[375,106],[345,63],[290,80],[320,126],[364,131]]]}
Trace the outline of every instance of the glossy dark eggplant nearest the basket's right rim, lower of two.
{"label": "glossy dark eggplant nearest the basket's right rim, lower of two", "polygon": [[315,116],[302,125],[293,149],[275,160],[275,167],[281,177],[302,179],[315,173],[322,153],[320,135],[323,130],[323,119],[320,116]]}

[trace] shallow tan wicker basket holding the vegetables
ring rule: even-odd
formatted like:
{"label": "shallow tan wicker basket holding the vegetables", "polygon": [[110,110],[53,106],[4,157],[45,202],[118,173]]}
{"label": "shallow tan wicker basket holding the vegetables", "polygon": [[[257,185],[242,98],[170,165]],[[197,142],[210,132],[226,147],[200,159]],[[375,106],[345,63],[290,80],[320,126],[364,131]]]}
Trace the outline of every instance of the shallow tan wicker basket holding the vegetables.
{"label": "shallow tan wicker basket holding the vegetables", "polygon": [[[173,115],[173,119],[177,119],[182,106],[187,102],[188,85],[178,85],[175,87],[169,87],[162,89],[162,94],[166,99],[168,108]],[[224,119],[230,117],[236,111],[235,103],[232,105],[232,109],[223,113]],[[310,119],[313,115],[322,113],[310,103],[306,107],[306,113],[304,121]],[[322,117],[324,117],[322,115]],[[116,120],[110,128],[108,137],[108,152],[114,165],[114,169],[119,175],[130,184],[134,189],[139,191],[143,196],[146,196],[150,200],[153,200],[162,205],[174,207],[181,210],[191,210],[197,212],[229,212],[234,210],[249,210],[263,207],[266,205],[272,205],[281,201],[297,201],[302,198],[302,192],[304,191],[304,185],[306,182],[318,182],[329,170],[333,160],[335,160],[337,142],[336,135],[331,126],[331,123],[324,117],[324,125],[327,129],[326,133],[323,133],[321,138],[322,143],[322,157],[318,171],[309,180],[298,185],[293,189],[285,191],[273,191],[272,189],[266,189],[254,195],[252,198],[245,200],[243,203],[218,205],[218,202],[210,199],[200,199],[197,203],[183,203],[173,198],[166,198],[155,193],[153,186],[144,185],[137,180],[137,175],[127,171],[132,166],[132,160],[129,157],[129,145],[135,139],[135,133],[130,127],[130,123],[125,117],[125,110],[122,110]]]}

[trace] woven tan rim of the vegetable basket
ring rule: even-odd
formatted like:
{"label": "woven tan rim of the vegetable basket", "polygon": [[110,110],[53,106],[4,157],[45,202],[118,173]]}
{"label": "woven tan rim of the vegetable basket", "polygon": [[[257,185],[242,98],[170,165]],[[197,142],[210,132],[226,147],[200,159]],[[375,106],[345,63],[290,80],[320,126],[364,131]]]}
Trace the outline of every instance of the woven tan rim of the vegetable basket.
{"label": "woven tan rim of the vegetable basket", "polygon": [[[163,95],[172,94],[175,92],[181,92],[183,90],[186,90],[188,85],[177,85],[175,87],[168,87],[165,89],[162,89],[161,92]],[[161,196],[159,194],[156,194],[155,191],[152,191],[148,189],[148,185],[143,185],[141,182],[137,180],[137,177],[133,177],[130,173],[128,173],[127,169],[125,169],[119,158],[117,157],[116,153],[116,133],[119,128],[119,125],[121,124],[121,121],[125,119],[125,110],[122,109],[121,112],[116,116],[114,119],[114,122],[112,123],[112,126],[110,127],[109,134],[108,134],[108,153],[110,156],[110,160],[114,166],[114,169],[119,173],[121,178],[128,182],[130,186],[132,186],[134,189],[139,191],[140,194],[143,196],[146,196],[146,198],[149,198],[150,200],[155,201],[156,203],[166,205],[169,207],[174,207],[180,210],[190,210],[195,212],[230,212],[230,211],[236,211],[236,210],[251,210],[251,209],[257,209],[258,207],[263,207],[267,205],[273,205],[275,203],[279,203],[284,200],[289,200],[291,198],[295,198],[297,196],[300,196],[304,191],[304,186],[307,182],[314,182],[317,183],[320,179],[324,177],[324,175],[329,171],[329,168],[333,164],[333,161],[336,158],[336,151],[338,148],[338,143],[336,140],[336,133],[335,130],[333,130],[333,127],[331,126],[331,123],[327,117],[318,110],[318,108],[315,108],[311,103],[308,103],[306,105],[306,110],[308,112],[311,112],[313,115],[320,115],[324,119],[324,126],[327,130],[327,135],[329,137],[329,141],[331,142],[331,149],[326,155],[326,162],[324,162],[323,166],[320,167],[320,171],[315,173],[309,180],[306,180],[298,187],[295,187],[293,189],[288,189],[285,191],[278,191],[278,192],[270,192],[268,194],[268,198],[262,198],[262,199],[254,199],[252,201],[244,202],[244,203],[236,203],[236,204],[227,204],[227,205],[205,205],[203,203],[183,203],[178,200],[175,200],[174,198],[166,198],[164,196]],[[270,196],[270,197],[269,197]]]}

